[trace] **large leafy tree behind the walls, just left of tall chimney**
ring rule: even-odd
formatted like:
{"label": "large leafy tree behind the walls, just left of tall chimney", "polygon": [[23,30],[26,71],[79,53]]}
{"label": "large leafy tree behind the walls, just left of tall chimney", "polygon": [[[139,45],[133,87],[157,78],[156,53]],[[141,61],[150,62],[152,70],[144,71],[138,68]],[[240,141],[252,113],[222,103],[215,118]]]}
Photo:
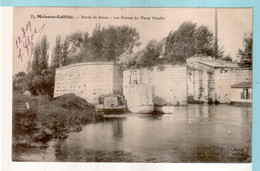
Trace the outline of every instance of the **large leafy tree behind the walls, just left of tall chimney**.
{"label": "large leafy tree behind the walls, just left of tall chimney", "polygon": [[[195,54],[215,56],[214,43],[213,33],[207,26],[184,22],[166,37],[165,62],[185,63],[187,57]],[[221,56],[221,52],[216,56]]]}

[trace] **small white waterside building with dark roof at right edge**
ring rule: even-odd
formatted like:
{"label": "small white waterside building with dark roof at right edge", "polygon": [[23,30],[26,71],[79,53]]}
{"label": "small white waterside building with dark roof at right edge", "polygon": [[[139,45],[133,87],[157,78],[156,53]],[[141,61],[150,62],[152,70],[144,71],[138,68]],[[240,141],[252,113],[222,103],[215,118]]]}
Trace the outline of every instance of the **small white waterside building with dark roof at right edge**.
{"label": "small white waterside building with dark roof at right edge", "polygon": [[241,82],[231,86],[231,103],[252,104],[252,82]]}

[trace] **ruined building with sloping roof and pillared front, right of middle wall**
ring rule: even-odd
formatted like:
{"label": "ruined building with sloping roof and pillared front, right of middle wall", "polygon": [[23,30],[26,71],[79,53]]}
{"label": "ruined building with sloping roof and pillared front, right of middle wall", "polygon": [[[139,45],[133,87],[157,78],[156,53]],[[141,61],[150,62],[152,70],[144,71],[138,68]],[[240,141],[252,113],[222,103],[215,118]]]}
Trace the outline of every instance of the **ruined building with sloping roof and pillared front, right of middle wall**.
{"label": "ruined building with sloping roof and pillared front, right of middle wall", "polygon": [[187,59],[188,101],[230,103],[231,86],[251,80],[252,71],[234,62],[203,56]]}

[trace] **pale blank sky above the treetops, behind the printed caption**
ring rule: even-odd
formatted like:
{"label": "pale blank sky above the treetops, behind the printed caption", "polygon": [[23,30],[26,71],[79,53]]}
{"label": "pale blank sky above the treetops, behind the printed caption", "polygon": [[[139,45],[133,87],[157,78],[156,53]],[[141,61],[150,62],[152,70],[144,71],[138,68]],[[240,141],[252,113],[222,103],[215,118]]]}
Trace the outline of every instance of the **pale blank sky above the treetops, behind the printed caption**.
{"label": "pale blank sky above the treetops, behind the printed caption", "polygon": [[[13,11],[14,74],[25,70],[32,59],[30,52],[34,49],[33,45],[39,42],[43,35],[47,36],[50,45],[49,56],[51,57],[58,35],[62,39],[76,31],[88,32],[91,35],[98,23],[102,27],[128,25],[136,28],[140,35],[141,46],[139,49],[144,48],[152,39],[161,40],[165,38],[170,31],[177,30],[185,21],[197,23],[198,26],[206,25],[215,33],[214,8],[15,7]],[[37,18],[37,15],[70,15],[73,19]],[[94,16],[97,18],[94,18]],[[129,17],[138,19],[125,19]],[[141,19],[141,17],[150,18],[150,20]],[[154,20],[152,17],[160,19]],[[218,41],[219,46],[224,48],[226,55],[236,59],[238,49],[243,48],[244,34],[252,32],[252,28],[252,8],[218,8]]]}

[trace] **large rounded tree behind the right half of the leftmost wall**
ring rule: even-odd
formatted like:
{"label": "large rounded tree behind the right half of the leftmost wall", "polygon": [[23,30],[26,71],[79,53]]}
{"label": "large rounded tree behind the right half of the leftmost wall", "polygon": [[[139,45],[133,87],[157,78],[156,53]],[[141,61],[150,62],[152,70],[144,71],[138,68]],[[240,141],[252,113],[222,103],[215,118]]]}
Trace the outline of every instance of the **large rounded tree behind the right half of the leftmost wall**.
{"label": "large rounded tree behind the right half of the leftmost wall", "polygon": [[139,33],[135,28],[124,25],[101,29],[97,25],[83,51],[88,51],[87,61],[118,61],[120,55],[131,53],[139,45]]}

